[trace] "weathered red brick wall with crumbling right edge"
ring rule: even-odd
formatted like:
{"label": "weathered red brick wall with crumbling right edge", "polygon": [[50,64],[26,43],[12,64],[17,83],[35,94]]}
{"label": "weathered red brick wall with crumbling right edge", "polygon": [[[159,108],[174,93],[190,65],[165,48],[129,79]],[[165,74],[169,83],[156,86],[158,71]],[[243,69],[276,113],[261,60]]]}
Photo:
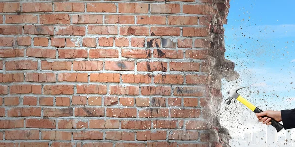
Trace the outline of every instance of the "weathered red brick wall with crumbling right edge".
{"label": "weathered red brick wall with crumbling right edge", "polygon": [[226,146],[227,13],[228,0],[0,2],[0,146]]}

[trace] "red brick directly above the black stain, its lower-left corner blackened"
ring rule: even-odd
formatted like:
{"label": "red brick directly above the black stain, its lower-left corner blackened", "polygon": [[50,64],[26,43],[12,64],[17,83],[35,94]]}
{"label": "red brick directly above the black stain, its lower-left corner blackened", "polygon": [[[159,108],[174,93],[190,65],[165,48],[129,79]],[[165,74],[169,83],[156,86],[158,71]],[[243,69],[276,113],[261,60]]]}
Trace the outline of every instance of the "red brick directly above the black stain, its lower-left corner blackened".
{"label": "red brick directly above the black stain, its lower-left corner blackened", "polygon": [[179,27],[151,27],[150,33],[154,34],[153,36],[180,36],[180,28]]}

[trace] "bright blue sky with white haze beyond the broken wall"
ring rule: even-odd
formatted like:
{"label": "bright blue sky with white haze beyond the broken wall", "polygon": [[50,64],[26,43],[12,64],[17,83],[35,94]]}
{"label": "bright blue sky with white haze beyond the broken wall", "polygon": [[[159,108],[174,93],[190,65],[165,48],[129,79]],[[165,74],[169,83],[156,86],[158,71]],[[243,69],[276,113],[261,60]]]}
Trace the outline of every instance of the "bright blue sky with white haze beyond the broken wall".
{"label": "bright blue sky with white haze beyond the broken wall", "polygon": [[[240,78],[223,80],[223,94],[235,86],[250,86],[240,94],[263,110],[295,108],[295,0],[231,0],[230,5],[224,25],[225,58],[235,62]],[[249,126],[259,124],[253,112],[238,102],[224,107],[230,115],[250,120]],[[221,122],[227,125],[233,119],[224,117]],[[240,128],[230,131],[235,129]]]}

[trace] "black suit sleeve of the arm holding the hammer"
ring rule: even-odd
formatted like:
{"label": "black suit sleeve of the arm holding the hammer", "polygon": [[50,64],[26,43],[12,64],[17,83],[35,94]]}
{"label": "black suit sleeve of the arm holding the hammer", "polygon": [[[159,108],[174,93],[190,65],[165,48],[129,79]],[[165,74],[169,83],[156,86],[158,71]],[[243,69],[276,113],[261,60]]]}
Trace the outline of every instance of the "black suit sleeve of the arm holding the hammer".
{"label": "black suit sleeve of the arm holding the hammer", "polygon": [[281,110],[285,130],[295,128],[295,109]]}

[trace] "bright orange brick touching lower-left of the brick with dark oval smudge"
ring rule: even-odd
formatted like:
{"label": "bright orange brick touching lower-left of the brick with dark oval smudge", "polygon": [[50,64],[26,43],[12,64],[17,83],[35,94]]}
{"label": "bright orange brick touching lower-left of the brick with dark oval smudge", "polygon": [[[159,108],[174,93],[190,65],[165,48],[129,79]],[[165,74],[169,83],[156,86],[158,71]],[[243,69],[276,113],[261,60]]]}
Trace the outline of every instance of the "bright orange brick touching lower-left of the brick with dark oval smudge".
{"label": "bright orange brick touching lower-left of the brick with dark oval smudge", "polygon": [[91,73],[90,74],[90,82],[119,83],[120,82],[120,74],[119,73]]}

